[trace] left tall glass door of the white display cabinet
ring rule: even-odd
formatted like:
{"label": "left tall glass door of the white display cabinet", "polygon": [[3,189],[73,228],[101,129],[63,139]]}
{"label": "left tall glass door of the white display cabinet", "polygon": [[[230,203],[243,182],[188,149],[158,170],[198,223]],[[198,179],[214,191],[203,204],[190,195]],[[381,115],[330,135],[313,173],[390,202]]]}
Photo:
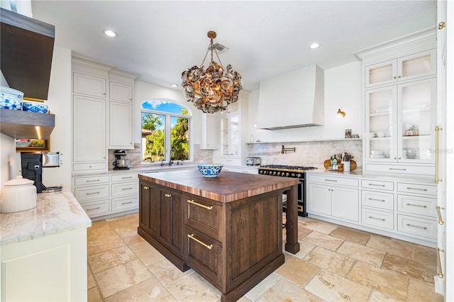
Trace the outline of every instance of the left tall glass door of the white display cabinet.
{"label": "left tall glass door of the white display cabinet", "polygon": [[366,91],[366,160],[394,162],[397,159],[396,86]]}

